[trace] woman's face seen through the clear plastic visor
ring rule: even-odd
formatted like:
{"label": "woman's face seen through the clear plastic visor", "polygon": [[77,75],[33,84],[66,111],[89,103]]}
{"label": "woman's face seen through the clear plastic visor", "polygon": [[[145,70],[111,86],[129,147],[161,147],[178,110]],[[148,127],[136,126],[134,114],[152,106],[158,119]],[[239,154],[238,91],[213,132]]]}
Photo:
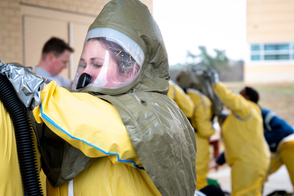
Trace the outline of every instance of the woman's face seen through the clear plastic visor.
{"label": "woman's face seen through the clear plastic visor", "polygon": [[79,73],[88,73],[92,77],[91,83],[101,86],[121,84],[118,65],[111,58],[110,52],[100,41],[89,40],[84,47],[78,65]]}

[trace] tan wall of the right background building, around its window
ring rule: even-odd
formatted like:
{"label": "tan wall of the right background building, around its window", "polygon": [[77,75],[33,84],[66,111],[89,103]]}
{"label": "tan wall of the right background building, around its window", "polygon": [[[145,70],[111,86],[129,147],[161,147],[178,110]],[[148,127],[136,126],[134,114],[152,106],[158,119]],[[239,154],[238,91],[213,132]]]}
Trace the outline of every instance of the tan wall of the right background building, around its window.
{"label": "tan wall of the right background building, around its window", "polygon": [[[249,44],[293,44],[294,1],[247,0],[247,41]],[[291,44],[288,60],[251,61],[249,47],[250,57],[245,62],[244,81],[294,82],[294,48]]]}

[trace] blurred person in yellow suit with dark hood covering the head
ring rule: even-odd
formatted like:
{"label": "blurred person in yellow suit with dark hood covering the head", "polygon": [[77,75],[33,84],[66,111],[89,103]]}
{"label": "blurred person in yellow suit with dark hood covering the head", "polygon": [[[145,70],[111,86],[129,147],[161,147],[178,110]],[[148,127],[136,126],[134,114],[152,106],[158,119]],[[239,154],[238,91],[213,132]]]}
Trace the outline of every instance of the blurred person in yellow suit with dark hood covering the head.
{"label": "blurred person in yellow suit with dark hood covering the head", "polygon": [[[185,78],[185,80],[183,80],[183,78]],[[200,190],[208,185],[206,178],[209,170],[209,138],[215,133],[215,130],[212,124],[212,102],[208,96],[198,90],[201,89],[202,86],[199,80],[195,78],[196,73],[193,71],[183,71],[179,73],[177,81],[180,87],[185,87],[186,94],[193,100],[193,115],[190,117],[190,122],[195,130],[197,145],[195,164],[197,177],[196,190]],[[208,79],[203,79],[203,81],[209,83]],[[198,89],[196,89],[197,87]]]}

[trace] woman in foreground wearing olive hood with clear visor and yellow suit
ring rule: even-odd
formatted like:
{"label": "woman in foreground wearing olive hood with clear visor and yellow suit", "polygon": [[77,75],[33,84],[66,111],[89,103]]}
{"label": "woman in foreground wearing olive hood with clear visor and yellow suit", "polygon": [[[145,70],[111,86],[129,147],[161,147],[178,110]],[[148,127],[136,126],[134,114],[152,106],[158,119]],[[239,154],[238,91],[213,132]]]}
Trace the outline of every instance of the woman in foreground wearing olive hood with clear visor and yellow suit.
{"label": "woman in foreground wearing olive hood with clear visor and yellow suit", "polygon": [[68,89],[15,63],[0,68],[34,108],[47,195],[194,194],[193,128],[166,96],[166,49],[140,1],[104,6]]}

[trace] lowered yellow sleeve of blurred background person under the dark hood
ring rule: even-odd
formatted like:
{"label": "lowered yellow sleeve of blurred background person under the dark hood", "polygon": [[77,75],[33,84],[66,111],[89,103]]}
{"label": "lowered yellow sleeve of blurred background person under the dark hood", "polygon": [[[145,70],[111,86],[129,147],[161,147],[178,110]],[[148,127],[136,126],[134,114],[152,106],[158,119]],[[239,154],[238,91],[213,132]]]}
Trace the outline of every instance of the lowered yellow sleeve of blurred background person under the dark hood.
{"label": "lowered yellow sleeve of blurred background person under the dark hood", "polygon": [[203,94],[187,91],[187,94],[192,98],[194,102],[194,112],[191,118],[191,125],[197,130],[199,137],[208,139],[215,132],[211,118],[211,100]]}

